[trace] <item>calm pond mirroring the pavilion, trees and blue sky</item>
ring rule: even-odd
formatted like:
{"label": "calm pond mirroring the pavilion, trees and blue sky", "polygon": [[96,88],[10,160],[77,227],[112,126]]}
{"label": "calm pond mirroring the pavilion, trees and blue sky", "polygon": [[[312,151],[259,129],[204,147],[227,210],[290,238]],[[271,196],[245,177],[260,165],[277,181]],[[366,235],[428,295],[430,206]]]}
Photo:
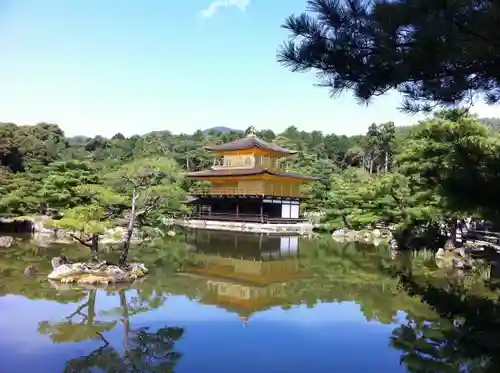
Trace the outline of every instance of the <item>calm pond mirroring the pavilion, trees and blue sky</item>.
{"label": "calm pond mirroring the pavilion, trees and blue sky", "polygon": [[[50,259],[61,252],[87,257],[78,246],[28,241],[0,249],[2,373],[483,372],[494,364],[453,339],[457,321],[439,318],[418,289],[410,296],[395,271],[436,289],[458,283],[481,299],[492,293],[485,274],[452,278],[425,252],[189,232],[135,248],[151,273],[106,290],[49,283]],[[23,274],[30,264],[40,269],[35,278]]]}

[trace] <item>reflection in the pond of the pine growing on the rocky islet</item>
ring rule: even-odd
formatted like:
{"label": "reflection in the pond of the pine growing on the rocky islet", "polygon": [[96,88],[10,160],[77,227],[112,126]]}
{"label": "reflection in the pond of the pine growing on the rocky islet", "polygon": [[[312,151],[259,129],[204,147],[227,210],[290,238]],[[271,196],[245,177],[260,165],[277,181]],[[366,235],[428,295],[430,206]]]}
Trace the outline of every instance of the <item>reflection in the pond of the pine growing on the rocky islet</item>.
{"label": "reflection in the pond of the pine growing on the rocky islet", "polygon": [[[98,290],[89,290],[87,301],[79,305],[65,320],[50,323],[42,321],[39,332],[50,336],[55,343],[97,340],[99,345],[87,355],[68,360],[65,373],[85,373],[100,369],[104,372],[173,372],[181,354],[175,351],[184,330],[179,327],[162,327],[152,331],[148,327],[134,328],[131,318],[161,306],[165,296],[161,293],[132,291],[127,299],[125,290],[118,290],[119,306],[100,312],[101,317],[117,317],[113,321],[97,320],[96,295]],[[147,293],[147,292],[146,292]],[[108,294],[111,295],[111,294]],[[115,294],[116,295],[116,294]],[[75,318],[79,317],[79,321]],[[123,348],[113,346],[106,332],[118,323],[123,327]]]}

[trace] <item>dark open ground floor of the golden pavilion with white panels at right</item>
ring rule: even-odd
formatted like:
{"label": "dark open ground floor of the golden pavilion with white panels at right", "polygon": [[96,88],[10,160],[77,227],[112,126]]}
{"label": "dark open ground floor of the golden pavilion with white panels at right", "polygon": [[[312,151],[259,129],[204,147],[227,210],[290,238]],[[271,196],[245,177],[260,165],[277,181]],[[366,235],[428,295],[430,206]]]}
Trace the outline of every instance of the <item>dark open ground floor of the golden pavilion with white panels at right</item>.
{"label": "dark open ground floor of the golden pavilion with white panels at right", "polygon": [[300,202],[293,198],[198,197],[185,201],[192,206],[191,219],[297,223]]}

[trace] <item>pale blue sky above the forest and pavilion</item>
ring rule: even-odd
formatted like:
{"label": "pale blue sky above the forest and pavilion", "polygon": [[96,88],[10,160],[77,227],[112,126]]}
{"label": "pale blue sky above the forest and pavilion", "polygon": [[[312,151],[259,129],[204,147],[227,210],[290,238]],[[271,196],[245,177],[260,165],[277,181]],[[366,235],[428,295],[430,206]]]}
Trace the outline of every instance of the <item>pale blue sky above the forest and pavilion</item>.
{"label": "pale blue sky above the forest and pavilion", "polygon": [[0,0],[0,121],[112,136],[218,125],[357,134],[419,119],[398,112],[397,93],[359,106],[278,65],[280,25],[305,3]]}

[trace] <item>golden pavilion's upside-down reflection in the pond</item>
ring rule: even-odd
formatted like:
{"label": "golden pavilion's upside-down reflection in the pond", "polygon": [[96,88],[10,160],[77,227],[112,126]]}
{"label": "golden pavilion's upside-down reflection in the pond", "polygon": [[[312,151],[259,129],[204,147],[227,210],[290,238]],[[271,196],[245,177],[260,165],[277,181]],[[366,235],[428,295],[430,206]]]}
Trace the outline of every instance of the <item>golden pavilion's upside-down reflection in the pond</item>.
{"label": "golden pavilion's upside-down reflection in the pond", "polygon": [[207,278],[201,303],[237,313],[242,321],[255,312],[287,305],[285,283],[305,278],[298,237],[196,231],[188,235],[194,266]]}

